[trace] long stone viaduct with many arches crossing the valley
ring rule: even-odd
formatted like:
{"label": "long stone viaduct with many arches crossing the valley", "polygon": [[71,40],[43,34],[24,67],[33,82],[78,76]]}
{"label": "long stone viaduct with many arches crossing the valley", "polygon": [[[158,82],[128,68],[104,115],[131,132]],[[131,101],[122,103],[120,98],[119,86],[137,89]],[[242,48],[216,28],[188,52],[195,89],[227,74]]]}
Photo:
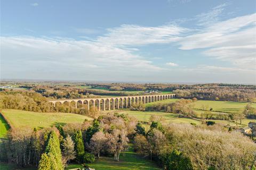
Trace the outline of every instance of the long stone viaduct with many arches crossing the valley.
{"label": "long stone viaduct with many arches crossing the valley", "polygon": [[119,97],[101,97],[101,98],[80,98],[80,99],[60,99],[50,100],[54,105],[73,104],[76,108],[78,104],[86,105],[88,109],[91,106],[97,107],[99,111],[106,111],[110,109],[129,108],[132,104],[151,103],[154,101],[174,98],[175,94],[165,95],[141,95],[141,96],[119,96]]}

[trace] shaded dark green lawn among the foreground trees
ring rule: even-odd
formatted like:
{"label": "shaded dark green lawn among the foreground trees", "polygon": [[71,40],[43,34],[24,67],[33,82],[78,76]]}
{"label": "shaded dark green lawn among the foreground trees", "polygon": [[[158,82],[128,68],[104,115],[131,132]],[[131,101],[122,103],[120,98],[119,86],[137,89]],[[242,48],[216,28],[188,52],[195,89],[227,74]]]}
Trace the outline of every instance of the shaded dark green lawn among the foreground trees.
{"label": "shaded dark green lawn among the foreground trees", "polygon": [[[113,157],[101,157],[92,164],[87,164],[90,168],[97,170],[137,170],[147,169],[156,170],[158,168],[153,162],[146,158],[138,156],[137,153],[129,148],[128,151],[123,152],[119,157],[119,162],[115,162]],[[82,167],[81,165],[69,165],[67,169]]]}

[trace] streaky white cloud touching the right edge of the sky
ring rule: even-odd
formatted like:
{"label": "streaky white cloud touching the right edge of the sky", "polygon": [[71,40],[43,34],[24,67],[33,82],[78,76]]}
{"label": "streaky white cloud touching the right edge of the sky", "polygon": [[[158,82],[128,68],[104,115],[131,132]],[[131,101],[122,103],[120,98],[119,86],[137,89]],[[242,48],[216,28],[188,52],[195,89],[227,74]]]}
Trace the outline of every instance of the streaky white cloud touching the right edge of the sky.
{"label": "streaky white cloud touching the right edge of the sky", "polygon": [[256,57],[256,13],[217,22],[179,41],[180,49],[209,48],[206,56],[254,68]]}

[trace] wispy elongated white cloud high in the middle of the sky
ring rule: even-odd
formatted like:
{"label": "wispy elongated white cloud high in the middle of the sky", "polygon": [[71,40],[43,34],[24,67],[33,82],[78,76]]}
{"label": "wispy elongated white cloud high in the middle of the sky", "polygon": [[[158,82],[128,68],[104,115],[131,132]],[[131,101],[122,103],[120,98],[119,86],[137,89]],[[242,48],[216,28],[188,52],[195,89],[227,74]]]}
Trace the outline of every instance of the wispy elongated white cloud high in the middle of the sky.
{"label": "wispy elongated white cloud high in the middle of the sky", "polygon": [[159,27],[141,27],[126,25],[108,29],[108,33],[97,41],[115,46],[135,46],[148,44],[171,43],[180,39],[181,33],[187,29],[177,25],[163,25]]}

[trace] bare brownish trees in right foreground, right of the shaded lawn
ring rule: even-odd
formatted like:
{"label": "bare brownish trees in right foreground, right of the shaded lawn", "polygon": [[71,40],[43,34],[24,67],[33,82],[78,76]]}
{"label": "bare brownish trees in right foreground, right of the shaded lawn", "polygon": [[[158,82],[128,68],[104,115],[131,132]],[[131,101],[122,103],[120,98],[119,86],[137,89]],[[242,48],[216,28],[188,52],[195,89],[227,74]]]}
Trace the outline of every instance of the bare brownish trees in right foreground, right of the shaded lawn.
{"label": "bare brownish trees in right foreground, right of the shaded lawn", "polygon": [[149,131],[137,124],[134,148],[164,169],[254,169],[256,145],[239,132],[218,125],[162,125],[152,118]]}

